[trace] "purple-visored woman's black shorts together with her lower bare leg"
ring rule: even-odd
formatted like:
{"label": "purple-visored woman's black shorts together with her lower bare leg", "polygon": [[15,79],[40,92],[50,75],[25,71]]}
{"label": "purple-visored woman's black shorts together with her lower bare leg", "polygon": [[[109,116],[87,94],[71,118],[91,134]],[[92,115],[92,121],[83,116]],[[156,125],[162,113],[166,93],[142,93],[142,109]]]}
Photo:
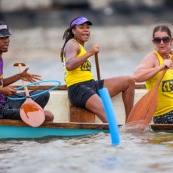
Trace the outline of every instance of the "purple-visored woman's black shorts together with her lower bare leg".
{"label": "purple-visored woman's black shorts together with her lower bare leg", "polygon": [[103,87],[103,81],[95,82],[94,80],[75,84],[68,88],[68,97],[70,102],[80,108],[86,108],[98,116],[98,118],[107,123],[101,98],[98,96],[98,88]]}

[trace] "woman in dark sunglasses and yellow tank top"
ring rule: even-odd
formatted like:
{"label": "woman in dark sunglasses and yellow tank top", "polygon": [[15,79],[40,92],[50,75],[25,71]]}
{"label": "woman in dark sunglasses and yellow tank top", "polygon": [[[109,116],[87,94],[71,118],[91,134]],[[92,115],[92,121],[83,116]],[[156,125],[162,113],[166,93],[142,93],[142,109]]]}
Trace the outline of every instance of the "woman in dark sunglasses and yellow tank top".
{"label": "woman in dark sunglasses and yellow tank top", "polygon": [[[158,88],[158,104],[154,113],[155,124],[173,124],[173,63],[171,44],[173,38],[166,25],[158,25],[153,30],[152,42],[155,50],[144,57],[134,72],[136,82],[146,83],[150,91],[167,68]],[[142,105],[141,105],[142,106]]]}

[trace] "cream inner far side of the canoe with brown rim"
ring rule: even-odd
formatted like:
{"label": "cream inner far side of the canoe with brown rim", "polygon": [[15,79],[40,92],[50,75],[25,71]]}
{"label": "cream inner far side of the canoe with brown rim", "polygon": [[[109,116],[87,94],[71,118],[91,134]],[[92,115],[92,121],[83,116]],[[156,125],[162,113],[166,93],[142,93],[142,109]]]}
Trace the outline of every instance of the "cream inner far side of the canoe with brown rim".
{"label": "cream inner far side of the canoe with brown rim", "polygon": [[[19,87],[19,86],[14,86]],[[29,90],[47,90],[52,88],[53,85],[38,85],[38,86],[28,86]],[[146,88],[144,84],[136,84],[135,89],[135,99],[134,102],[137,102],[145,93]],[[112,103],[114,111],[117,115],[117,120],[119,124],[124,124],[125,122],[125,110],[124,103],[122,100],[122,95],[118,94],[112,98]],[[51,110],[55,115],[55,122],[69,122],[69,100],[67,95],[66,85],[61,85],[57,89],[50,91],[50,99],[45,109]],[[96,117],[95,123],[101,123],[101,121]]]}

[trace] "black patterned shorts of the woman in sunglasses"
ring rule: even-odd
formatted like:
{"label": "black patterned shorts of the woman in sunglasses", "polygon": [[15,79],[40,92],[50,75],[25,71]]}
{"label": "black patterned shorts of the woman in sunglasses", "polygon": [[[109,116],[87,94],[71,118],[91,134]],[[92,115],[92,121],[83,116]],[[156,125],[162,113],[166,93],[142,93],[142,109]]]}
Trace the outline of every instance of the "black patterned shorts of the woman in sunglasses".
{"label": "black patterned shorts of the woman in sunglasses", "polygon": [[173,124],[173,111],[153,118],[154,124]]}

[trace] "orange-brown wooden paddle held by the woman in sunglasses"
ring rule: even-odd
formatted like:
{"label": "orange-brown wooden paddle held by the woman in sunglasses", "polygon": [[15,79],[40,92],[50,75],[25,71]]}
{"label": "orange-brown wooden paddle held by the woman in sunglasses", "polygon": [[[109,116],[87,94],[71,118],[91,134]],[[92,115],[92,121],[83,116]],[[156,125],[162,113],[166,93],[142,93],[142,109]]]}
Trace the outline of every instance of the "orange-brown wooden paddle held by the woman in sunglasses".
{"label": "orange-brown wooden paddle held by the woman in sunglasses", "polygon": [[158,87],[162,81],[167,68],[163,70],[155,86],[146,93],[131,110],[126,125],[127,129],[145,130],[152,120],[158,101]]}

